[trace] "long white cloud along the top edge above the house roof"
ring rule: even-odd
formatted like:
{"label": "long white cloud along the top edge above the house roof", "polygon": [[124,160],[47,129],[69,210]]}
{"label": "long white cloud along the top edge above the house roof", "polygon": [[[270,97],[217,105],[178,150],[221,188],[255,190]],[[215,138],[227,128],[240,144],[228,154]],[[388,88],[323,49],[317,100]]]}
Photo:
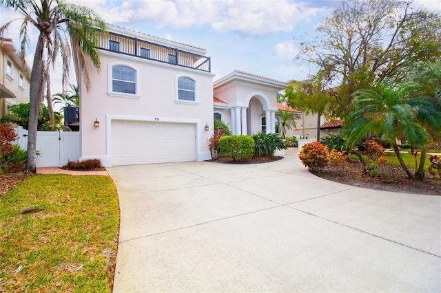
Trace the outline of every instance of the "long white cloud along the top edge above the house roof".
{"label": "long white cloud along the top edge above the house roof", "polygon": [[[86,3],[86,2],[82,2]],[[158,28],[209,25],[216,32],[261,36],[291,32],[294,25],[324,8],[305,1],[92,1],[108,23],[150,22]]]}

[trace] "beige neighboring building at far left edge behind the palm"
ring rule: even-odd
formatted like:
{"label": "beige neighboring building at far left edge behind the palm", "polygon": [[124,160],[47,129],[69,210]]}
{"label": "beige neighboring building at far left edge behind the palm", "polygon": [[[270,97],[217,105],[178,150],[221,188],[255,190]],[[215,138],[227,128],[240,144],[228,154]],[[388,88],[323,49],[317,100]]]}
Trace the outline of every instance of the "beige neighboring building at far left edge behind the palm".
{"label": "beige neighboring building at far left edge behind the palm", "polygon": [[0,118],[10,105],[29,102],[30,68],[12,39],[0,38]]}

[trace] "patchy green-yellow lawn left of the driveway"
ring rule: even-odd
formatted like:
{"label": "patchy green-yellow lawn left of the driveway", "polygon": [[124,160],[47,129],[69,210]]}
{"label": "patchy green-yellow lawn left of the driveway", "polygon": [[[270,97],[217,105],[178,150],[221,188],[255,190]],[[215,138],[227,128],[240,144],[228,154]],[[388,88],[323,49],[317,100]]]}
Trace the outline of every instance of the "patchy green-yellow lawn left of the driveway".
{"label": "patchy green-yellow lawn left of the driveway", "polygon": [[110,177],[29,177],[0,197],[0,292],[111,292],[118,232]]}

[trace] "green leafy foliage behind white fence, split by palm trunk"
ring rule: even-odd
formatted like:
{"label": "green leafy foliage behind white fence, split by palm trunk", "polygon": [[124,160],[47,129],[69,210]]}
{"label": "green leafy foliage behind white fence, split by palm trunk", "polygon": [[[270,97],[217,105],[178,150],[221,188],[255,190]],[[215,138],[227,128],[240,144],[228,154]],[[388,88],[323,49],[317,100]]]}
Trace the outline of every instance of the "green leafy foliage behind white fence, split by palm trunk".
{"label": "green leafy foliage behind white fence, split by palm trunk", "polygon": [[[29,103],[12,105],[10,108],[10,114],[3,116],[1,122],[15,123],[29,130]],[[37,123],[38,131],[58,131],[63,129],[63,116],[60,113],[54,112],[53,122],[51,122],[49,109],[43,105],[41,111],[39,112],[39,120]]]}

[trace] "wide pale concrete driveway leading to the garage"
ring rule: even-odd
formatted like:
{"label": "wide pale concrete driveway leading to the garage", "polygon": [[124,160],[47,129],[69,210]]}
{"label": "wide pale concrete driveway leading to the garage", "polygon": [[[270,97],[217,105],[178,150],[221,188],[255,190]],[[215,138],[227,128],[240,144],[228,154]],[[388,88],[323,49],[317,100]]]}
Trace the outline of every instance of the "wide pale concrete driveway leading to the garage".
{"label": "wide pale concrete driveway leading to the garage", "polygon": [[441,292],[441,197],[266,164],[107,169],[121,205],[114,292]]}

